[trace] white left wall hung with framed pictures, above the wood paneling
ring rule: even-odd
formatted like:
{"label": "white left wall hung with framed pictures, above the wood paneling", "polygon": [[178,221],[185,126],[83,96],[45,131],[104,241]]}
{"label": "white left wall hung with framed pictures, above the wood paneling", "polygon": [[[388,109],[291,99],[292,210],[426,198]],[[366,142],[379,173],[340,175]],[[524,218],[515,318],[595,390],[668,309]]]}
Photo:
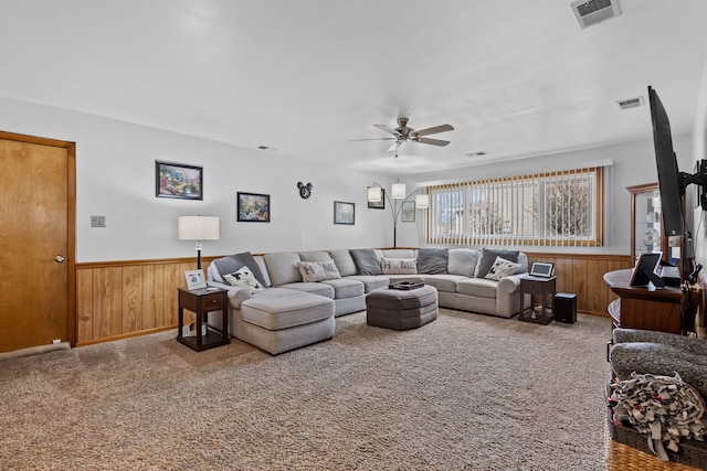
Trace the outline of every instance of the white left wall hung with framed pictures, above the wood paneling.
{"label": "white left wall hung with framed pictures, above the wood paneling", "polygon": [[[177,217],[221,218],[204,255],[392,245],[389,211],[367,208],[380,175],[286,158],[112,119],[0,97],[0,129],[76,142],[76,261],[190,257]],[[155,196],[155,161],[203,167],[203,201]],[[313,195],[299,197],[297,182]],[[271,195],[271,223],[238,223],[238,191]],[[334,201],[356,203],[356,224],[334,224]],[[91,216],[106,216],[92,228]]]}

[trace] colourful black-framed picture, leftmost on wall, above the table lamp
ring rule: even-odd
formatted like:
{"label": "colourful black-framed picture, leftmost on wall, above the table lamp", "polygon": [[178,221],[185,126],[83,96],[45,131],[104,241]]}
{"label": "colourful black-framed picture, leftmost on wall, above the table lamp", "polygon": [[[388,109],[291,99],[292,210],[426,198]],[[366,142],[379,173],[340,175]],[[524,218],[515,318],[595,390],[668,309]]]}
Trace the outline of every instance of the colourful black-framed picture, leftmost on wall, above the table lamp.
{"label": "colourful black-framed picture, leftmost on wall, above the table lamp", "polygon": [[203,169],[181,163],[155,162],[155,196],[203,200]]}

